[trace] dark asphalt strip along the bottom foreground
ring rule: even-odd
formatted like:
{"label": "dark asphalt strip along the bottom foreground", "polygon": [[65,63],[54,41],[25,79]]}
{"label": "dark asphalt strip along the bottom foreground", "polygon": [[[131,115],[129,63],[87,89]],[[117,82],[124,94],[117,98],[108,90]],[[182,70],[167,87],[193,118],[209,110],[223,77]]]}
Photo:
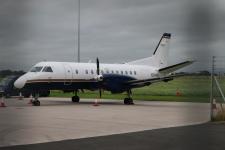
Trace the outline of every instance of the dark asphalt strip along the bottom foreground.
{"label": "dark asphalt strip along the bottom foreground", "polygon": [[40,144],[0,147],[0,150],[224,150],[225,123],[62,140]]}

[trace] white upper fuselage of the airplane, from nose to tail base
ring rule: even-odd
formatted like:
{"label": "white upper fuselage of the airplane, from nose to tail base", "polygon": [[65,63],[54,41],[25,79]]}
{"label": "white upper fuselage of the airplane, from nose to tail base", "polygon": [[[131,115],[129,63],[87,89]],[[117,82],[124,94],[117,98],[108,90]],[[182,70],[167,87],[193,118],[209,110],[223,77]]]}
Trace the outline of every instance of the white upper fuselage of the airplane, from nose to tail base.
{"label": "white upper fuselage of the airplane, from nose to tail base", "polygon": [[[15,87],[23,88],[26,83],[39,81],[60,81],[67,83],[74,81],[90,81],[96,79],[98,76],[95,63],[40,62],[34,67],[41,67],[41,69],[33,72],[29,71],[21,76],[15,82]],[[45,72],[45,67],[51,67],[52,72]],[[136,80],[143,80],[158,76],[158,68],[145,65],[100,64],[100,74],[123,75]]]}

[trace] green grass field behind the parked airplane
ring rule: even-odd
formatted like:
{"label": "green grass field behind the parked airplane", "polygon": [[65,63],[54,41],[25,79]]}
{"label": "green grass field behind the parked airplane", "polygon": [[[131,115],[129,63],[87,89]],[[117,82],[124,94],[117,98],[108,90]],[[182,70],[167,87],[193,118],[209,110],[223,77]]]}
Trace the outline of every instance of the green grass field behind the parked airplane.
{"label": "green grass field behind the parked airplane", "polygon": [[[223,88],[225,89],[225,88]],[[210,77],[209,76],[185,76],[168,83],[159,82],[147,87],[133,89],[133,99],[149,101],[180,101],[180,102],[209,102]],[[177,91],[180,96],[177,96]],[[72,97],[73,93],[52,91],[52,97]],[[98,92],[85,91],[79,93],[81,98],[97,98]],[[124,99],[126,93],[111,94],[104,92],[104,99]]]}

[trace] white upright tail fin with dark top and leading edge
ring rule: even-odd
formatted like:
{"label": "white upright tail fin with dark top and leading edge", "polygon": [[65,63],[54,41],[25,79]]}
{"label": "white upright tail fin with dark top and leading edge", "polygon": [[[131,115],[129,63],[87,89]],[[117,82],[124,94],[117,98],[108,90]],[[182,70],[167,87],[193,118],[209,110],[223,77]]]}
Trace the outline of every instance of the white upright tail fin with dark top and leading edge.
{"label": "white upright tail fin with dark top and leading edge", "polygon": [[167,66],[168,53],[169,53],[169,41],[171,38],[170,33],[164,33],[156,46],[156,49],[152,57],[139,59],[136,61],[129,62],[128,64],[133,65],[148,65],[155,66],[157,68],[163,68]]}

